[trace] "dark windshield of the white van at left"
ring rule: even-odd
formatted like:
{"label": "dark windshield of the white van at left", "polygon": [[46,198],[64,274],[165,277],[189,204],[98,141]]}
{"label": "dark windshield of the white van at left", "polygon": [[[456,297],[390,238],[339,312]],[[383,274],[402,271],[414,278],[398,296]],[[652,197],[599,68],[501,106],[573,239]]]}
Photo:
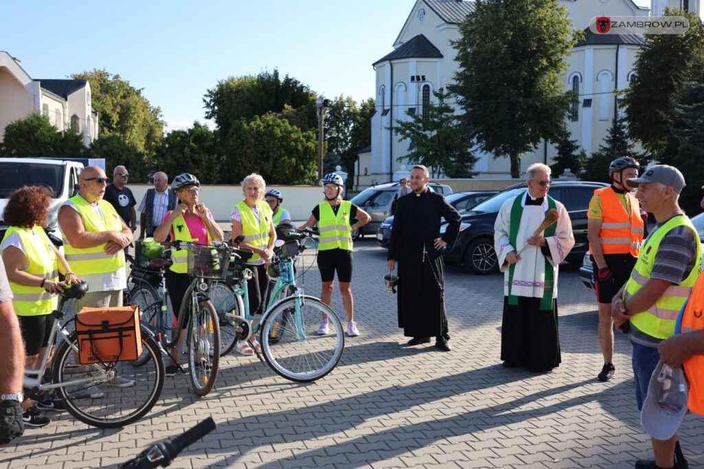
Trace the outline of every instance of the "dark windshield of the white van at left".
{"label": "dark windshield of the white van at left", "polygon": [[40,163],[0,163],[0,198],[8,198],[22,186],[45,186],[60,197],[63,191],[63,165]]}

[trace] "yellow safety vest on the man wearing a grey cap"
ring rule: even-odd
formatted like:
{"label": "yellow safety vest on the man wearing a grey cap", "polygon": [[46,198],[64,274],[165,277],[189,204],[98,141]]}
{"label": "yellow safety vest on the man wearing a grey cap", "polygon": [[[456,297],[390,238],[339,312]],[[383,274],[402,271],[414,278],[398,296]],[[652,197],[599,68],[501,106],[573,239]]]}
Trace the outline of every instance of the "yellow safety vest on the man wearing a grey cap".
{"label": "yellow safety vest on the man wearing a grey cap", "polygon": [[[636,266],[631,271],[631,278],[626,283],[624,300],[628,300],[629,297],[635,295],[650,280],[650,273],[653,271],[655,255],[658,254],[660,242],[670,230],[677,226],[687,226],[694,232],[697,240],[699,239],[697,230],[689,221],[689,218],[684,215],[672,217],[667,223],[660,226],[659,229],[650,235],[641,248],[641,255],[639,255]],[[647,311],[641,311],[631,316],[631,323],[636,328],[658,339],[666,339],[674,334],[674,323],[677,321],[679,310],[684,306],[684,302],[689,297],[701,271],[701,257],[701,245],[697,242],[696,263],[692,271],[686,278],[682,279],[679,285],[667,287],[665,293]]]}

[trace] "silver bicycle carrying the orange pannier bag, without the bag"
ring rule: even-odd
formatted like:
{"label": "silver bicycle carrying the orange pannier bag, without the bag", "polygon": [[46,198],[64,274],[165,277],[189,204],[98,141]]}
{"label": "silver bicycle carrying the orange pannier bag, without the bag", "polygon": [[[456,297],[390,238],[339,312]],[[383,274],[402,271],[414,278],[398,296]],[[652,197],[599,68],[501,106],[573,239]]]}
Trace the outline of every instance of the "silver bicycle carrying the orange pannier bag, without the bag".
{"label": "silver bicycle carrying the orange pannier bag, without the bag", "polygon": [[[23,387],[28,396],[38,399],[39,394],[54,390],[72,416],[99,428],[129,425],[142,418],[156,404],[163,389],[165,370],[156,342],[149,330],[142,328],[142,349],[146,355],[144,366],[137,369],[127,361],[114,361],[82,365],[78,363],[77,333],[68,332],[61,324],[65,302],[80,299],[88,290],[86,283],[74,283],[63,288],[58,308],[51,312],[56,319],[46,345],[42,364],[37,369],[25,369]],[[75,318],[69,322],[75,321]],[[44,383],[49,355],[57,336],[63,341],[54,354],[51,382]],[[131,373],[130,373],[131,372]],[[116,385],[115,378],[123,378]],[[129,380],[124,378],[129,377]],[[125,386],[127,384],[127,386]]]}

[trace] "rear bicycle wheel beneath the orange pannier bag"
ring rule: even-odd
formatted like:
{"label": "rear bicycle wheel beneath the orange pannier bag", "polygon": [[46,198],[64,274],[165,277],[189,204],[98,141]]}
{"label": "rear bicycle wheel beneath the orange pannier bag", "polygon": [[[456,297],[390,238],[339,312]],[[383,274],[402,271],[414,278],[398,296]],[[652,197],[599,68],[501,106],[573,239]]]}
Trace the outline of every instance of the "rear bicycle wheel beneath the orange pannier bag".
{"label": "rear bicycle wheel beneath the orange pannier bag", "polygon": [[82,365],[77,357],[77,335],[70,335],[54,355],[54,383],[87,380],[59,387],[56,392],[72,416],[99,428],[128,425],[149,412],[164,387],[164,363],[150,337],[142,336],[146,363],[137,368],[132,361],[107,365]]}

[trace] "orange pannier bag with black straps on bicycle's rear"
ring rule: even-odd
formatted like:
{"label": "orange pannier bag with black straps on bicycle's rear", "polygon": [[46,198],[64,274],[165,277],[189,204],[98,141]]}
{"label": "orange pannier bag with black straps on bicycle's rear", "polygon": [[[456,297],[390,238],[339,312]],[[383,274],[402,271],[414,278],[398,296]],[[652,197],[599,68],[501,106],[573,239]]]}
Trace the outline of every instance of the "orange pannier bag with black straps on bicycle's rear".
{"label": "orange pannier bag with black straps on bicycle's rear", "polygon": [[142,354],[139,306],[89,308],[76,315],[78,361],[87,365],[134,361]]}

